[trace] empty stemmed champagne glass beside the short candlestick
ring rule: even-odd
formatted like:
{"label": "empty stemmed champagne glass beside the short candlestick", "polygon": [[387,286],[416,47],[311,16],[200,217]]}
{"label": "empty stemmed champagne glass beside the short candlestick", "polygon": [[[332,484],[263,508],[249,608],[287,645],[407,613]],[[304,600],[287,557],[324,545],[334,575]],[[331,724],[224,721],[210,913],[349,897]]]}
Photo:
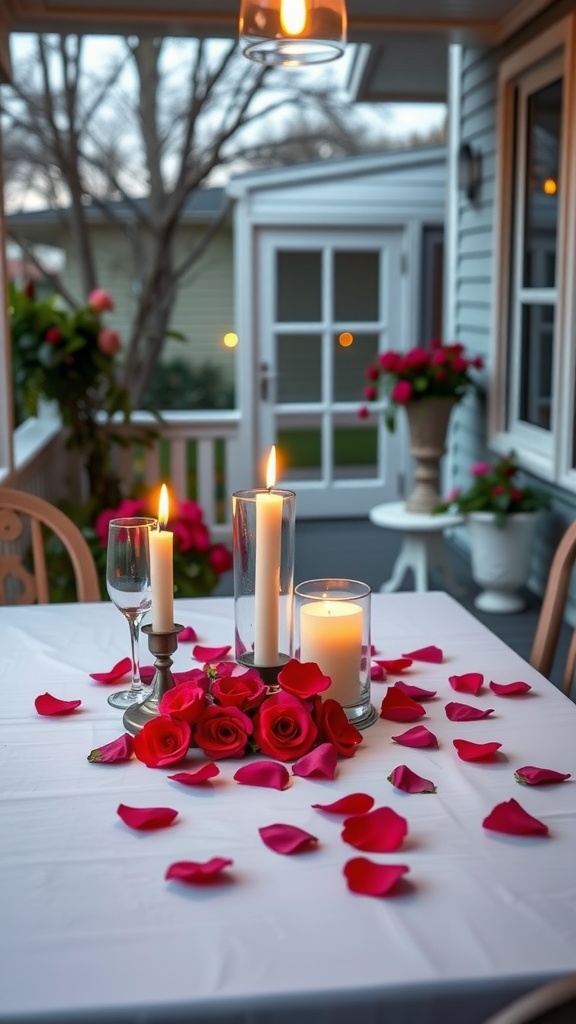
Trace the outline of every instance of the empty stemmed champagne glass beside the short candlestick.
{"label": "empty stemmed champagne glass beside the short candlestick", "polygon": [[112,519],[108,532],[106,585],[108,593],[130,627],[132,679],[127,690],[112,693],[113,708],[141,703],[150,693],[140,679],[140,623],[152,607],[150,581],[150,531],[158,520],[143,516]]}

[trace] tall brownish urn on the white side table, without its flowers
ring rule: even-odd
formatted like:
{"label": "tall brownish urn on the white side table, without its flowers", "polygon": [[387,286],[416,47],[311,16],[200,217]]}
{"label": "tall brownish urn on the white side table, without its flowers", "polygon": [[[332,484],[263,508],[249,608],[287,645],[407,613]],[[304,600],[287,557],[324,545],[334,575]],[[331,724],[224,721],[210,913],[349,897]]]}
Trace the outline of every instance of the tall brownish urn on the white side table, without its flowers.
{"label": "tall brownish urn on the white side table, without its flowers", "polygon": [[448,422],[456,398],[419,398],[404,408],[410,429],[410,455],[416,464],[408,512],[431,512],[440,504],[440,460],[446,451]]}

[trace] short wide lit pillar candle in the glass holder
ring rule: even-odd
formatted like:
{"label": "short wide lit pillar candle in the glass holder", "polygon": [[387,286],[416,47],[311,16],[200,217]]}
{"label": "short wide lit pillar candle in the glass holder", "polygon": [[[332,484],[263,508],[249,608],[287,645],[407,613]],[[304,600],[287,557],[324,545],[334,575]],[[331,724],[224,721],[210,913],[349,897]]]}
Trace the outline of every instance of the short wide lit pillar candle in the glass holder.
{"label": "short wide lit pillar candle in the glass holder", "polygon": [[343,707],[360,696],[363,611],[351,601],[311,601],[300,608],[300,662],[316,662],[332,685],[322,694]]}

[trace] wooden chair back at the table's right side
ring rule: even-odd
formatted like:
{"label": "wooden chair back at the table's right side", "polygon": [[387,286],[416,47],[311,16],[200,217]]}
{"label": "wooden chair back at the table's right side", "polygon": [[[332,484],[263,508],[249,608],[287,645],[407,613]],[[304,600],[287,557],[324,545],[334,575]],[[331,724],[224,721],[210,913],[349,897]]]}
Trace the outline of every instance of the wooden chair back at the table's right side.
{"label": "wooden chair back at the table's right side", "polygon": [[[576,520],[564,534],[552,558],[530,652],[530,665],[546,677],[549,677],[552,669],[575,562]],[[563,689],[565,693],[570,692],[575,669],[576,631],[572,635],[564,670]]]}

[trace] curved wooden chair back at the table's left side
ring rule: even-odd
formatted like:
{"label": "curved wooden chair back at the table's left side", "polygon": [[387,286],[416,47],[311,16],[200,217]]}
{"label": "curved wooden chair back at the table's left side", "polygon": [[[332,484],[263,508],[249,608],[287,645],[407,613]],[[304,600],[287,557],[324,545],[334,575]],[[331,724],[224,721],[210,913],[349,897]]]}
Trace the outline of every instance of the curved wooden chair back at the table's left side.
{"label": "curved wooden chair back at the table's left side", "polygon": [[[61,541],[70,556],[77,599],[99,601],[98,574],[92,554],[72,519],[43,498],[0,487],[0,605],[47,604],[50,600],[42,526],[48,527]],[[14,548],[8,553],[7,546],[12,542]],[[32,571],[23,562],[29,545]],[[19,593],[16,593],[18,587]],[[12,592],[13,599],[9,601]]]}

